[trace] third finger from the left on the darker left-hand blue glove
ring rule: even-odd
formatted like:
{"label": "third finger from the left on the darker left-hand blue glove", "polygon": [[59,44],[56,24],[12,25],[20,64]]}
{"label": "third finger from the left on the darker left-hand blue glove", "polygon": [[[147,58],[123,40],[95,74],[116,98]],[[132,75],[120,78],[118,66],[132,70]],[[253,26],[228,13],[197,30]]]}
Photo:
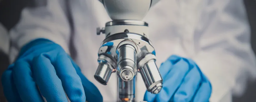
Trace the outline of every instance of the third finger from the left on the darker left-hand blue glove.
{"label": "third finger from the left on the darker left-hand blue glove", "polygon": [[34,57],[32,63],[34,79],[47,102],[67,102],[62,82],[54,66],[44,54]]}

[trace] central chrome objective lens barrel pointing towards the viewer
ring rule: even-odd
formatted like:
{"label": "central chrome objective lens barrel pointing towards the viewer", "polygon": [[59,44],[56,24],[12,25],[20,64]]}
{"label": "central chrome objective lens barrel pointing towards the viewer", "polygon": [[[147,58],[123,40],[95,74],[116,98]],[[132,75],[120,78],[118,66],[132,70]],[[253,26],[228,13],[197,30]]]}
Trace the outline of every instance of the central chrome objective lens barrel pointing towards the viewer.
{"label": "central chrome objective lens barrel pointing towards the viewer", "polygon": [[117,71],[124,81],[132,80],[137,73],[137,46],[130,40],[120,42],[117,47]]}

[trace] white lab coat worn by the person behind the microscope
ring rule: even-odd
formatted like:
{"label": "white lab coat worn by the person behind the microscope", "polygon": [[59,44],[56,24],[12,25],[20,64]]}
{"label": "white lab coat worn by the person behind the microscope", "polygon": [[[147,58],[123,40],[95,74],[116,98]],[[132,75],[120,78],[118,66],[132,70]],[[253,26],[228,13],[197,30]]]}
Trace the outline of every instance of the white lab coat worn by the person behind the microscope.
{"label": "white lab coat worn by the person behind the microscope", "polygon": [[[105,37],[96,35],[96,27],[104,27],[108,21],[111,19],[98,0],[70,0],[68,5],[65,0],[47,0],[46,6],[25,8],[10,31],[11,61],[24,44],[48,38],[75,55],[74,60],[98,87],[104,102],[113,102],[117,99],[116,74],[106,86],[93,77]],[[192,58],[212,84],[210,101],[232,101],[232,93],[241,95],[246,81],[256,77],[243,0],[160,0],[144,21],[149,23],[157,65],[172,54]],[[75,51],[70,50],[73,48]],[[140,101],[146,87],[139,74],[137,79],[136,99]]]}

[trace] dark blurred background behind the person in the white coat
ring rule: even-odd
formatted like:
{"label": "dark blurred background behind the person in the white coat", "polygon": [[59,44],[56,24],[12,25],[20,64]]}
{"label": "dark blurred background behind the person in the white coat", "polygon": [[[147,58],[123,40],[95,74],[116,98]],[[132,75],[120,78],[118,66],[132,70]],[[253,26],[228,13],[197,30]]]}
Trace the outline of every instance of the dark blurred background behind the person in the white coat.
{"label": "dark blurred background behind the person in the white coat", "polygon": [[[0,0],[0,22],[7,30],[11,29],[19,20],[22,8],[33,6],[37,0]],[[256,52],[256,0],[244,0],[250,26],[251,26],[251,44]],[[0,80],[3,71],[8,67],[8,56],[0,49]],[[1,81],[0,81],[1,83]],[[248,82],[246,93],[241,97],[233,96],[234,102],[256,102],[256,80]],[[2,83],[0,84],[0,102],[5,102]]]}

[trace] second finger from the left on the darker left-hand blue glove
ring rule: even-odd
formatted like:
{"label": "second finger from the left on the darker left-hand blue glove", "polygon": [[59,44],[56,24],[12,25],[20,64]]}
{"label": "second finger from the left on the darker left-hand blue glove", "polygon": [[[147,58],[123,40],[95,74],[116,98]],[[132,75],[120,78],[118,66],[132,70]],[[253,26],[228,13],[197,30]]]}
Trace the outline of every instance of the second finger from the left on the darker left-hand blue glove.
{"label": "second finger from the left on the darker left-hand blue glove", "polygon": [[32,77],[30,65],[26,61],[16,61],[13,77],[18,93],[23,102],[44,102]]}

